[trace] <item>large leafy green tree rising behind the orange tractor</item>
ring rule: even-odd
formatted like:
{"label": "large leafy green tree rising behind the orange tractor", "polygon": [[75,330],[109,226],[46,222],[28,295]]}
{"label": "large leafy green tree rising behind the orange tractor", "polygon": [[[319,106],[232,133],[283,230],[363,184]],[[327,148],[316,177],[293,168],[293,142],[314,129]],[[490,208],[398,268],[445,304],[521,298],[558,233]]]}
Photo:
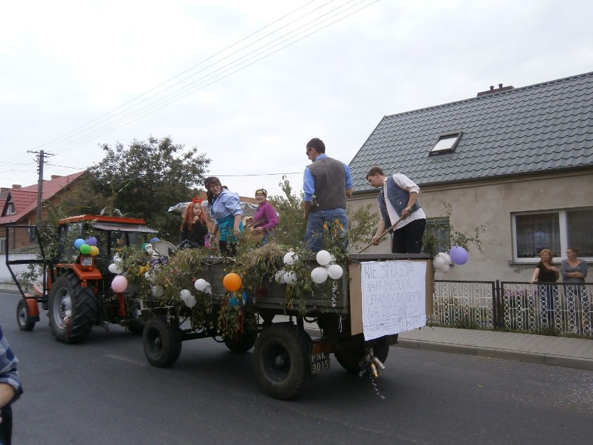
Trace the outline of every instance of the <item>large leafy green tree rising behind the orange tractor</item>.
{"label": "large leafy green tree rising behind the orange tractor", "polygon": [[[168,208],[190,201],[203,183],[210,159],[174,144],[167,136],[134,141],[129,148],[121,143],[102,146],[105,157],[90,167],[92,188],[102,198],[103,209],[116,209],[129,217],[144,218],[148,226],[159,230],[159,237],[177,243],[180,217]],[[116,212],[117,213],[117,212]]]}

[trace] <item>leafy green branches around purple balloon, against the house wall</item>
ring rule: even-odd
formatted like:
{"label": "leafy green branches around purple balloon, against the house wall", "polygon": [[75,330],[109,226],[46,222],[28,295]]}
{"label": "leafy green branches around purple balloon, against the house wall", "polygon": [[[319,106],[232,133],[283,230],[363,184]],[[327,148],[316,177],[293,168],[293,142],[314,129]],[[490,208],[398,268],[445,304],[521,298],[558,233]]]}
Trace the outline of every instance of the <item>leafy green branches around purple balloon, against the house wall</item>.
{"label": "leafy green branches around purple balloon, against the house wall", "polygon": [[469,250],[469,247],[473,246],[480,251],[480,253],[484,253],[480,235],[486,233],[486,228],[490,223],[486,222],[480,224],[465,232],[456,231],[453,224],[451,224],[453,206],[448,203],[443,203],[443,205],[445,206],[445,217],[448,221],[448,230],[446,230],[447,228],[442,224],[427,224],[424,237],[422,237],[422,251],[430,253],[432,256],[436,256],[439,246],[443,242],[443,237],[448,237],[448,246],[446,246],[446,249],[450,249],[452,246],[461,246],[464,249]]}

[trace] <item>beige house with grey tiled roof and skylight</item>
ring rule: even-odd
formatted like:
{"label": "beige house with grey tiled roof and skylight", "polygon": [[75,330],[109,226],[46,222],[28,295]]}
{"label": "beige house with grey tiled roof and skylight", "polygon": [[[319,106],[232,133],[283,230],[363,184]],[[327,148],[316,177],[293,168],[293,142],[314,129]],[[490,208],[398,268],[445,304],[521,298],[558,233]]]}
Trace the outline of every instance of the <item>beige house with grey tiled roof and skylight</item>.
{"label": "beige house with grey tiled roof and skylight", "polygon": [[375,165],[420,186],[429,225],[489,224],[484,253],[447,279],[528,281],[543,248],[558,264],[567,247],[593,261],[593,72],[385,116],[349,164],[354,208],[378,211]]}

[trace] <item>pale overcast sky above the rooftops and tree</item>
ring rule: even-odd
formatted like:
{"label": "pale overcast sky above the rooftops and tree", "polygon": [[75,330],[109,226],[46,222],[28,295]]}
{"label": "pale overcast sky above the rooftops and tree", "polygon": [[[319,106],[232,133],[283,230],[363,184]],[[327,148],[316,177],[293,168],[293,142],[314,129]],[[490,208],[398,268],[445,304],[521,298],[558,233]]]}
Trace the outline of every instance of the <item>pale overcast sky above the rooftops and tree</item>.
{"label": "pale overcast sky above the rooftops and tree", "polygon": [[282,173],[300,190],[312,137],[348,163],[385,115],[593,70],[590,0],[33,0],[1,13],[2,187],[37,182],[28,151],[53,154],[49,179],[152,135],[198,147],[244,196],[278,194]]}

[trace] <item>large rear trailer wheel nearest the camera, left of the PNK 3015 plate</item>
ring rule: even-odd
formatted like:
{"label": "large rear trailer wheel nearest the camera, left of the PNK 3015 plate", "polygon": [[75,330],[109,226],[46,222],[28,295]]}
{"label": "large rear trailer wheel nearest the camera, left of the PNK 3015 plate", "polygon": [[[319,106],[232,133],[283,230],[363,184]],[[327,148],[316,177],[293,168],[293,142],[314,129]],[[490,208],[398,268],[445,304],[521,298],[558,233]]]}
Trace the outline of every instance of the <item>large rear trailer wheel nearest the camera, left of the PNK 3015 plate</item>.
{"label": "large rear trailer wheel nearest the camera, left of the PNK 3015 plate", "polygon": [[311,338],[292,323],[264,328],[255,343],[255,373],[264,392],[290,400],[299,396],[311,378]]}

